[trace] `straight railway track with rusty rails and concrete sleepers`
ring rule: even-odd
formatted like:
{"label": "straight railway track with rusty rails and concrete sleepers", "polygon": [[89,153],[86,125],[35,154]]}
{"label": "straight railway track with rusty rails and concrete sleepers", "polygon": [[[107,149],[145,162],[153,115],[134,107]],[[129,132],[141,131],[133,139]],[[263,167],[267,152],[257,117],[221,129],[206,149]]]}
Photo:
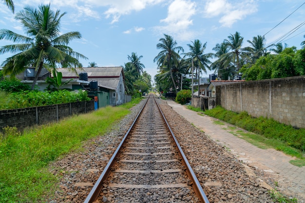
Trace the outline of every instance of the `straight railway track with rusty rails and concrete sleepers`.
{"label": "straight railway track with rusty rails and concrete sleepers", "polygon": [[149,96],[85,203],[209,203],[153,96]]}

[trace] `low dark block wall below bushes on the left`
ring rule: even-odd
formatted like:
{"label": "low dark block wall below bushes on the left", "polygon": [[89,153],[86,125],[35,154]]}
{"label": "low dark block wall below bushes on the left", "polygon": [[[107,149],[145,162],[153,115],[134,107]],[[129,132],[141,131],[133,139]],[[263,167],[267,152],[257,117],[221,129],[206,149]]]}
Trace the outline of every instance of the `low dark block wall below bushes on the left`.
{"label": "low dark block wall below bushes on the left", "polygon": [[70,115],[94,111],[94,100],[0,111],[0,131],[3,127],[19,130],[34,125],[58,121]]}

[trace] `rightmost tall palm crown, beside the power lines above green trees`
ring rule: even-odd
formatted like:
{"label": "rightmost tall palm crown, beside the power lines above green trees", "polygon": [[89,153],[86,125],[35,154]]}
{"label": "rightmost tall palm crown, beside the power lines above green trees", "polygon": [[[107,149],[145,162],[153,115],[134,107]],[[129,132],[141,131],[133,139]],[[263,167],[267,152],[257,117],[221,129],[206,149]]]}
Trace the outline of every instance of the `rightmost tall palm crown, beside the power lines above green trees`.
{"label": "rightmost tall palm crown, beside the power lines above green trees", "polygon": [[[268,54],[267,48],[265,47],[265,37],[258,35],[257,37],[253,37],[252,41],[247,40],[250,43],[250,46],[245,48],[246,51],[250,54],[250,61],[255,63],[255,61],[261,56],[265,56]],[[271,46],[271,45],[270,45]]]}

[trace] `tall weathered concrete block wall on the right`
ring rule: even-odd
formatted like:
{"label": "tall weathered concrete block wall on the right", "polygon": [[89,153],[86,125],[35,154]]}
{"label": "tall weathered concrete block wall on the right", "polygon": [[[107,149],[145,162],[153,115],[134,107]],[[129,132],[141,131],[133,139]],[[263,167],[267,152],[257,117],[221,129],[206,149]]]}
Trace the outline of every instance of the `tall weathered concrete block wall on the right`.
{"label": "tall weathered concrete block wall on the right", "polygon": [[216,105],[305,128],[305,76],[217,86]]}

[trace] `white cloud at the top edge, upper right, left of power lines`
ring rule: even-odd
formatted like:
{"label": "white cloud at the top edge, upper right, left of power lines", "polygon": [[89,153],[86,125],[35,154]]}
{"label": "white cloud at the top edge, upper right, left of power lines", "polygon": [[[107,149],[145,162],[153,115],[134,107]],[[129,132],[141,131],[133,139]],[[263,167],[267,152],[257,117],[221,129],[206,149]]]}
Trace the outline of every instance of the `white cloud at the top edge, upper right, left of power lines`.
{"label": "white cloud at the top edge, upper right, left of power lines", "polygon": [[208,0],[205,6],[205,16],[207,18],[221,16],[219,22],[224,27],[231,27],[237,20],[246,18],[255,12],[257,12],[255,0],[231,2],[229,0]]}

